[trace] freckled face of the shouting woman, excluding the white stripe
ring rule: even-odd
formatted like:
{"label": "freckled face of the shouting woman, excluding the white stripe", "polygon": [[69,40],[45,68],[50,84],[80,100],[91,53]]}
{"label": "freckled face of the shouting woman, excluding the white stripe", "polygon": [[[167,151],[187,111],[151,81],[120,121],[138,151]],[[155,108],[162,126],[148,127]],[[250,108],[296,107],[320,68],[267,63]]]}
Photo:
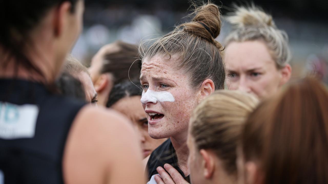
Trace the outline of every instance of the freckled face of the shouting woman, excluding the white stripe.
{"label": "freckled face of the shouting woman, excluding the white stripe", "polygon": [[[167,60],[161,55],[145,58],[142,62],[140,82],[144,92],[169,92],[174,97],[173,102],[143,103],[149,121],[148,133],[155,139],[186,133],[191,112],[197,102],[196,92],[190,88],[190,77],[182,69],[176,69],[176,62],[174,57]],[[149,115],[152,112],[161,115]]]}

